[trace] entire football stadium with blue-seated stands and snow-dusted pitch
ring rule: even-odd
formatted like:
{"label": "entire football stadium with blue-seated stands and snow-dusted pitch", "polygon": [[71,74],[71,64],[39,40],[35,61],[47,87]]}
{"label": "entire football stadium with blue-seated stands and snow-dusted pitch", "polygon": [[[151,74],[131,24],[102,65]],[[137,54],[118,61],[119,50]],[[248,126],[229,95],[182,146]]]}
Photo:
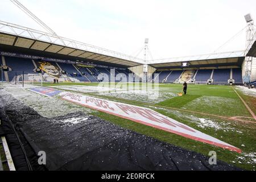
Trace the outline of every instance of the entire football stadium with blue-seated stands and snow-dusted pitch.
{"label": "entire football stadium with blue-seated stands and snow-dusted pitch", "polygon": [[151,59],[150,38],[93,46],[21,2],[44,31],[0,19],[0,171],[255,171],[255,12],[241,51]]}

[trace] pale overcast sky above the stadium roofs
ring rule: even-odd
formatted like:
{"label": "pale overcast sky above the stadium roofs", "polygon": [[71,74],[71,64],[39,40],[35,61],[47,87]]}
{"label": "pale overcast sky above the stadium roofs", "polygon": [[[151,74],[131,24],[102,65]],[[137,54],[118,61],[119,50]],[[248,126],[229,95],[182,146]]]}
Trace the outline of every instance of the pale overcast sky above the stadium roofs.
{"label": "pale overcast sky above the stadium roofs", "polygon": [[[212,53],[256,18],[255,0],[19,0],[58,35],[135,56],[149,38],[154,59]],[[42,30],[9,0],[0,20]],[[245,31],[218,52],[245,49]],[[139,55],[139,57],[142,57]]]}

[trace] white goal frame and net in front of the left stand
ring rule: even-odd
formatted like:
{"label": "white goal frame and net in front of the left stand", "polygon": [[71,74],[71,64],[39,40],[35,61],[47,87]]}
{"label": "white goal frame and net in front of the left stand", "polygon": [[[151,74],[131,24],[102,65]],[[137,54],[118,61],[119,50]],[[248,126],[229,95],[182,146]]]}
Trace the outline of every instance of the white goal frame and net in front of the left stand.
{"label": "white goal frame and net in front of the left stand", "polygon": [[19,74],[17,75],[15,73],[15,76],[13,77],[13,80],[10,81],[11,84],[22,84],[24,85],[24,83],[32,83],[32,85],[34,85],[34,83],[40,83],[41,86],[43,86],[43,82],[44,82],[44,78],[42,73],[36,73],[36,74]]}

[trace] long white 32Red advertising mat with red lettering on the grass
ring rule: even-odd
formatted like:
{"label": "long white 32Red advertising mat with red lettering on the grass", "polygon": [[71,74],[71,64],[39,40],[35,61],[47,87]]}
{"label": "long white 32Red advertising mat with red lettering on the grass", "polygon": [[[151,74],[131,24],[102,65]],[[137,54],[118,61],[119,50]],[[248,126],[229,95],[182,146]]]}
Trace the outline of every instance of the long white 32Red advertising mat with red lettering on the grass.
{"label": "long white 32Red advertising mat with red lettering on the grass", "polygon": [[177,122],[172,118],[166,117],[165,115],[157,113],[156,111],[146,107],[122,104],[119,102],[102,100],[100,98],[82,96],[74,93],[67,93],[61,98],[63,100],[89,107],[91,109],[99,110],[104,113],[117,115],[121,118],[142,123],[143,125],[155,127],[157,129],[181,135],[186,138],[241,153],[240,148],[234,147],[228,143],[222,142],[221,140],[210,137],[201,131],[197,131],[192,127]]}

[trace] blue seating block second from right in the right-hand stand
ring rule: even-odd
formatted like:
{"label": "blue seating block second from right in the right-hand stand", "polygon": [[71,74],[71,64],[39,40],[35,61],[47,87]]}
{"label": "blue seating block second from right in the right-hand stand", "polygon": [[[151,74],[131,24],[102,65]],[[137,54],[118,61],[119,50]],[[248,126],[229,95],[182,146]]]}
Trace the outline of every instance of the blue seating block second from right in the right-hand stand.
{"label": "blue seating block second from right in the right-hand stand", "polygon": [[230,79],[230,69],[214,69],[213,82],[214,84],[228,84]]}

